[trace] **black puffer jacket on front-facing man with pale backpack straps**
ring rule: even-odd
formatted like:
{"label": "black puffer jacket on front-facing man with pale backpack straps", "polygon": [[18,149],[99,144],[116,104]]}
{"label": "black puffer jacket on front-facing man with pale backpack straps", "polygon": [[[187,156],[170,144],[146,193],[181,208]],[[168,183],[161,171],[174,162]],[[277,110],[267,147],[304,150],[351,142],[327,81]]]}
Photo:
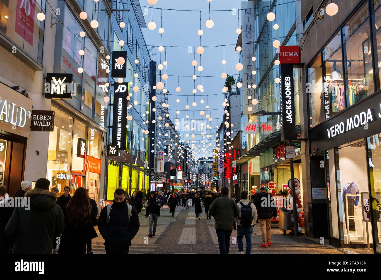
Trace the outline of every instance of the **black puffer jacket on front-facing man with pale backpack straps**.
{"label": "black puffer jacket on front-facing man with pale backpack straps", "polygon": [[131,246],[131,240],[139,230],[139,215],[136,208],[132,207],[132,216],[129,220],[130,213],[128,213],[127,203],[123,202],[121,205],[116,205],[114,201],[112,206],[108,223],[107,207],[102,209],[98,219],[98,229],[105,240],[106,248],[121,250]]}

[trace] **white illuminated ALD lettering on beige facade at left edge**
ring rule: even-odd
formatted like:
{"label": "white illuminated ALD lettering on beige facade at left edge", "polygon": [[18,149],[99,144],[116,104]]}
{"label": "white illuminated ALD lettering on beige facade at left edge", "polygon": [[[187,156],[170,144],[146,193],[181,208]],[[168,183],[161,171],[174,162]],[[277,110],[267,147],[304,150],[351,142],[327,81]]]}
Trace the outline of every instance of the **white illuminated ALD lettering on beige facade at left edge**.
{"label": "white illuminated ALD lettering on beige facade at left edge", "polygon": [[30,118],[30,112],[22,107],[16,107],[14,103],[8,103],[6,99],[0,99],[0,120],[11,125],[24,127],[26,119]]}

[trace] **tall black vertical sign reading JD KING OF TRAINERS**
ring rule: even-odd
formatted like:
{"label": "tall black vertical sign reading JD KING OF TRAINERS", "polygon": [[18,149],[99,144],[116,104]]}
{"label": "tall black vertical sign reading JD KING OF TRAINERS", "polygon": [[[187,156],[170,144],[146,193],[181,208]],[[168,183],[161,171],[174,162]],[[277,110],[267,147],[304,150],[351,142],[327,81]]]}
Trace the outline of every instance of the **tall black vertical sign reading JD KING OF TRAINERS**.
{"label": "tall black vertical sign reading JD KING OF TRAINERS", "polygon": [[112,144],[119,150],[126,149],[128,83],[114,85],[114,114],[112,118]]}

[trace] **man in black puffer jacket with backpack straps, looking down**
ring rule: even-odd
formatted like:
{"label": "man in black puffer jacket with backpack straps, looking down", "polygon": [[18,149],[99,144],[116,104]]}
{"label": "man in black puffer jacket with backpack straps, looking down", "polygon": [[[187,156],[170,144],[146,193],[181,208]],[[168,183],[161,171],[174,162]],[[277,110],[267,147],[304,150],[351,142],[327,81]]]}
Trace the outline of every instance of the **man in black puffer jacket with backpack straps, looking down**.
{"label": "man in black puffer jacket with backpack straps, looking down", "polygon": [[98,219],[98,229],[105,241],[106,254],[128,254],[131,240],[139,226],[138,211],[127,204],[124,190],[116,189],[114,201],[102,209]]}

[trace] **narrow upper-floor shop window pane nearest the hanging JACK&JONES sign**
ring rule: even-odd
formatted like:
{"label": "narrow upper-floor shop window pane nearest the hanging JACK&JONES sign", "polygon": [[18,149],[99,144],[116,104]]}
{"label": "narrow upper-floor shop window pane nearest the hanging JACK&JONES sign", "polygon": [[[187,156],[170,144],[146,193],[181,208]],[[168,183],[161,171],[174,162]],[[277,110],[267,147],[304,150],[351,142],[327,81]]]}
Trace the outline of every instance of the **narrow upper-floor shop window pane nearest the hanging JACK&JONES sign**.
{"label": "narrow upper-floor shop window pane nearest the hanging JACK&JONES sign", "polygon": [[322,82],[322,57],[319,54],[314,62],[312,62],[312,65],[307,68],[306,91],[309,97],[310,127],[314,127],[324,120],[322,110]]}

